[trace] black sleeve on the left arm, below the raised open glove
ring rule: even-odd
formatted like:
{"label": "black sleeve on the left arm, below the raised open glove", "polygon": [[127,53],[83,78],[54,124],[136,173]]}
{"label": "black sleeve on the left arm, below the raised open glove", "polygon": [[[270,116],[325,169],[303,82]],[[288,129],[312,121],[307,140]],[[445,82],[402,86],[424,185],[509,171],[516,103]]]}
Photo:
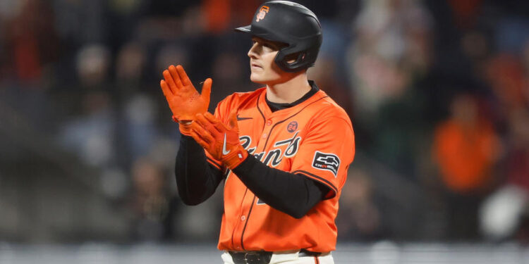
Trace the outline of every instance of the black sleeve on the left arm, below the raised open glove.
{"label": "black sleeve on the left arm, below the raised open glove", "polygon": [[185,135],[180,140],[174,173],[178,194],[188,206],[206,201],[224,178],[221,170],[207,162],[202,146]]}

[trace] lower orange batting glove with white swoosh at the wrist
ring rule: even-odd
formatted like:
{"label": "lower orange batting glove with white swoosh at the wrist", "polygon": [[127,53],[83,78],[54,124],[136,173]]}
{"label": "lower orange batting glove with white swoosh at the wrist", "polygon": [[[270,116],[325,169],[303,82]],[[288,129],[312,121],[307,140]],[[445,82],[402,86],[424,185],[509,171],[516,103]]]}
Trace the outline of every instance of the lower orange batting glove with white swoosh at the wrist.
{"label": "lower orange batting glove with white swoosh at the wrist", "polygon": [[190,126],[191,137],[214,158],[233,169],[248,157],[248,151],[239,141],[236,112],[231,113],[228,125],[207,112],[203,115],[199,113],[196,117],[197,122]]}

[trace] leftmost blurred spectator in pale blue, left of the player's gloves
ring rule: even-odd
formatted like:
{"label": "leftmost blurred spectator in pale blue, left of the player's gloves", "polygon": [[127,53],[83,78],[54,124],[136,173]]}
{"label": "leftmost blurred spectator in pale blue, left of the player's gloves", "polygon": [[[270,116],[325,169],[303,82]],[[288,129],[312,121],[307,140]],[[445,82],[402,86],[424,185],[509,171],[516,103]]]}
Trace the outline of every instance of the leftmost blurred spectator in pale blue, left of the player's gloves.
{"label": "leftmost blurred spectator in pale blue, left of the player's gloves", "polygon": [[80,80],[80,115],[64,122],[59,142],[77,152],[83,160],[102,167],[115,161],[115,110],[108,92],[109,51],[101,45],[87,45],[77,56]]}

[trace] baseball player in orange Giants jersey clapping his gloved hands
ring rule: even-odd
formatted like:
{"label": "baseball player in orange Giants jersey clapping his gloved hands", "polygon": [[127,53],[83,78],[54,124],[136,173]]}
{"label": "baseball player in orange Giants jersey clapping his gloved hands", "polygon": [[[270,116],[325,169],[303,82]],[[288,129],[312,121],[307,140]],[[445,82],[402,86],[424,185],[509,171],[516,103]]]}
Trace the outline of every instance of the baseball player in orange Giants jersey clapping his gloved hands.
{"label": "baseball player in orange Giants jersey clapping his gloved hands", "polygon": [[196,205],[224,180],[218,248],[226,264],[334,263],[338,200],[355,153],[351,120],[308,80],[322,43],[317,17],[290,1],[262,4],[251,25],[250,80],[207,113],[212,80],[199,94],[181,65],[162,90],[179,123],[178,194]]}

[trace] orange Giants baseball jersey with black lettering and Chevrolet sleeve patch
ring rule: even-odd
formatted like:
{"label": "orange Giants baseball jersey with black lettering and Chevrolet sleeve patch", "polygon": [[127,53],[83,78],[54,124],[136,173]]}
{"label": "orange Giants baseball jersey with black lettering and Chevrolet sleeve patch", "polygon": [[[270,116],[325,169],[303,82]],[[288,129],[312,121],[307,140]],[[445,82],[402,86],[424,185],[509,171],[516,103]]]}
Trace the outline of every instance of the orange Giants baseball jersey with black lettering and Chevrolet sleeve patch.
{"label": "orange Giants baseball jersey with black lettering and Chevrolet sleeve patch", "polygon": [[[322,90],[274,113],[265,96],[266,88],[232,94],[219,103],[215,115],[226,123],[236,109],[239,137],[248,153],[269,167],[316,180],[330,191],[303,218],[296,219],[260,201],[229,172],[218,247],[231,251],[333,251],[338,199],[355,154],[351,120]],[[207,155],[209,163],[224,169]]]}

